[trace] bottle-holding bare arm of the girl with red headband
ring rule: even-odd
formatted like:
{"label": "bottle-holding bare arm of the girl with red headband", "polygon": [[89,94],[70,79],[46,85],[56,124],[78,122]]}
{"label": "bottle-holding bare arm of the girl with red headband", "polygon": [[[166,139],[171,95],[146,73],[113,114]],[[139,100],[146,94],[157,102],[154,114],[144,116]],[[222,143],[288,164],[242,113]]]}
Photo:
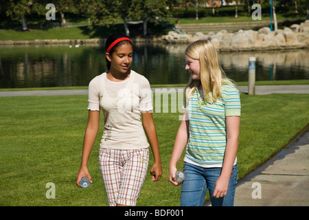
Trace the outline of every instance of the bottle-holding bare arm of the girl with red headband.
{"label": "bottle-holding bare arm of the girl with red headband", "polygon": [[76,175],[76,184],[78,186],[80,186],[80,179],[83,176],[87,176],[89,180],[92,182],[91,176],[87,168],[87,164],[93,144],[95,142],[95,137],[98,134],[99,120],[100,120],[100,111],[89,110],[87,128],[84,133],[84,144],[82,146],[82,162],[80,164],[80,170]]}

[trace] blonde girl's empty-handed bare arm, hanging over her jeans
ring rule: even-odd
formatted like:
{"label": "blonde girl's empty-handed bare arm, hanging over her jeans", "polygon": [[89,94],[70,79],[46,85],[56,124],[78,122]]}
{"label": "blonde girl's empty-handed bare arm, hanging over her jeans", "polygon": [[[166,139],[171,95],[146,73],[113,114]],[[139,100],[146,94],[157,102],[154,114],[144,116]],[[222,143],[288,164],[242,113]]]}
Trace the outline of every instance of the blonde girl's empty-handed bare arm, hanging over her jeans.
{"label": "blonde girl's empty-handed bare arm, hanging over her jeans", "polygon": [[222,172],[216,182],[216,188],[214,190],[213,196],[216,198],[227,195],[229,178],[231,176],[231,170],[233,169],[233,163],[236,158],[236,153],[238,149],[240,117],[229,116],[226,118],[226,124],[227,124],[227,146],[225,148],[225,159],[222,166]]}

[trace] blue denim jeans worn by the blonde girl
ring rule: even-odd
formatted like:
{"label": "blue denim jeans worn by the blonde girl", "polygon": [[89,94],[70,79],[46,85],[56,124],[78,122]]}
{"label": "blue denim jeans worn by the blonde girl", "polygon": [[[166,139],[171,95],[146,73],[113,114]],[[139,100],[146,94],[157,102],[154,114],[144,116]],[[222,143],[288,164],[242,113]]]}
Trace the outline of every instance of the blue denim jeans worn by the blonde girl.
{"label": "blue denim jeans worn by the blonde girl", "polygon": [[181,206],[203,206],[207,188],[209,190],[211,206],[233,206],[237,184],[237,164],[233,166],[229,187],[225,197],[214,198],[215,184],[220,177],[222,168],[203,168],[185,162],[183,172],[185,179],[181,188]]}

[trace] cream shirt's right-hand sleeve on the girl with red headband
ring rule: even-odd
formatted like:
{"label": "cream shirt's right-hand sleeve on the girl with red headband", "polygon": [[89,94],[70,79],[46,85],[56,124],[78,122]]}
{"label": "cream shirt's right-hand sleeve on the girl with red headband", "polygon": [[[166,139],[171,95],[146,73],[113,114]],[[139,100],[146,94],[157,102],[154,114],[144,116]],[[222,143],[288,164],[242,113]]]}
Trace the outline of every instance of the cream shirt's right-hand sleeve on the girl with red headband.
{"label": "cream shirt's right-hand sleeve on the girl with red headband", "polygon": [[146,78],[144,78],[144,80],[141,80],[140,83],[141,90],[139,96],[139,111],[152,111],[152,91],[150,89],[150,83]]}

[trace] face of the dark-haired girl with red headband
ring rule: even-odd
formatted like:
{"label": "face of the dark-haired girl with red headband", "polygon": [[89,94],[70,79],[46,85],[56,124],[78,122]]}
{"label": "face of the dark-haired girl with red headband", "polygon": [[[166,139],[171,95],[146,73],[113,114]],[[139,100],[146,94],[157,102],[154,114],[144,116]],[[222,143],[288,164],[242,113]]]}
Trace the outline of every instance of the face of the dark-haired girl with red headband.
{"label": "face of the dark-haired girl with red headband", "polygon": [[128,43],[120,45],[112,54],[106,53],[106,58],[111,62],[112,73],[126,74],[133,61],[133,47]]}

